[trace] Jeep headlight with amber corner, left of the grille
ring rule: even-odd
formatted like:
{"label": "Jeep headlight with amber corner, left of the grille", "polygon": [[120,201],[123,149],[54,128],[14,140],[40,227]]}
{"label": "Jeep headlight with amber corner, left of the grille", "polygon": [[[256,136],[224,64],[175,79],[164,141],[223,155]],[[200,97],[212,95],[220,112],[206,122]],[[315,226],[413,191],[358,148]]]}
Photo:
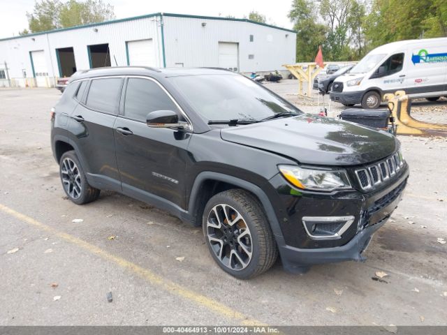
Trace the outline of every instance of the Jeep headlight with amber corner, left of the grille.
{"label": "Jeep headlight with amber corner, left of the grille", "polygon": [[296,165],[278,165],[279,171],[293,186],[309,191],[334,191],[351,188],[345,170],[317,170]]}

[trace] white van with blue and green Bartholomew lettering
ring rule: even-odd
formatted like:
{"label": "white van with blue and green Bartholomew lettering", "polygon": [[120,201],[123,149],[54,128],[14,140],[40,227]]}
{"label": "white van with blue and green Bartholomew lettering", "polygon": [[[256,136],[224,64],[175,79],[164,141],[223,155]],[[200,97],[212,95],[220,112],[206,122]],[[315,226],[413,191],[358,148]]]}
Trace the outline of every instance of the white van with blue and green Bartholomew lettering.
{"label": "white van with blue and green Bartholomew lettering", "polygon": [[383,94],[403,89],[412,98],[447,96],[447,38],[401,40],[369,52],[337,77],[330,99],[346,106],[379,107]]}

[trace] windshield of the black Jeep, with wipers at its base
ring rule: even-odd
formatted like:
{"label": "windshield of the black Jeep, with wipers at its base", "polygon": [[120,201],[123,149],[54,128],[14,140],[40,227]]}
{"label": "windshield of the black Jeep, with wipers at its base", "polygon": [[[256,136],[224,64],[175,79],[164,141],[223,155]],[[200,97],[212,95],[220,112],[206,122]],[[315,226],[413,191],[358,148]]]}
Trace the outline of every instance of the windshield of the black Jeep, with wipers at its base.
{"label": "windshield of the black Jeep, with wipers at its base", "polygon": [[287,112],[302,114],[297,107],[242,75],[184,75],[170,80],[208,121],[261,120]]}

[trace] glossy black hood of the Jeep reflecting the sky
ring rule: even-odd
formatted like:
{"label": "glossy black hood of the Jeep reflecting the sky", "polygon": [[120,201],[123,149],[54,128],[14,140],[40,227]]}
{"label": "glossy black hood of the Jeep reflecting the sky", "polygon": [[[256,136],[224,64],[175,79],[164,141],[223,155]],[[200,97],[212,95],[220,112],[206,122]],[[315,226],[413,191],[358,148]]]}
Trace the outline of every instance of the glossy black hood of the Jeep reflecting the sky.
{"label": "glossy black hood of the Jeep reflecting the sky", "polygon": [[384,131],[315,115],[228,127],[221,138],[316,165],[361,165],[390,156],[398,147]]}

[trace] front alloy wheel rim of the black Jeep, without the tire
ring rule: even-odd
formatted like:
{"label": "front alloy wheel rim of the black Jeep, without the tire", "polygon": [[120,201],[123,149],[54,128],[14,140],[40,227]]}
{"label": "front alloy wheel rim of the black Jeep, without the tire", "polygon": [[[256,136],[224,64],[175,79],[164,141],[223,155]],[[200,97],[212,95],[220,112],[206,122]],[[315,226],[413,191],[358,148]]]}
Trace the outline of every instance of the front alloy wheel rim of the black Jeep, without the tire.
{"label": "front alloy wheel rim of the black Jeep, without the tire", "polygon": [[228,204],[214,206],[207,218],[207,238],[217,259],[229,269],[245,269],[253,254],[250,230],[242,215]]}

